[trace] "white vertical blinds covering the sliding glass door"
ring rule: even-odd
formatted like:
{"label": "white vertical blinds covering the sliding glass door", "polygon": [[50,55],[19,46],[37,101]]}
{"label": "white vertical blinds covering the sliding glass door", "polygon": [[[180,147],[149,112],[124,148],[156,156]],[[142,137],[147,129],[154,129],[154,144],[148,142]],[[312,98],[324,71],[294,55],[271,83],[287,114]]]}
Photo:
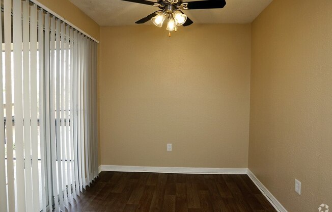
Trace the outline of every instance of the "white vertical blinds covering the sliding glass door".
{"label": "white vertical blinds covering the sliding glass door", "polygon": [[65,211],[98,176],[97,43],[32,2],[1,3],[0,211]]}

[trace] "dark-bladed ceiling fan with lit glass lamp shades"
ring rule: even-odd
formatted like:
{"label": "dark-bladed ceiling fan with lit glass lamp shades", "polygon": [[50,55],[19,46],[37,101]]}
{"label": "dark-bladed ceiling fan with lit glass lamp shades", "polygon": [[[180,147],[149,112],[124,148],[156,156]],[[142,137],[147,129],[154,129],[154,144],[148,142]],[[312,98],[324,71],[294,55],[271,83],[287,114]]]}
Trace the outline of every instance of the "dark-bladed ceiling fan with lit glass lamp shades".
{"label": "dark-bladed ceiling fan with lit glass lamp shades", "polygon": [[167,18],[168,23],[166,30],[170,31],[169,37],[171,37],[171,31],[177,30],[177,26],[188,26],[193,23],[192,20],[190,20],[190,18],[188,18],[181,10],[224,8],[226,5],[225,0],[204,0],[194,2],[182,2],[182,0],[157,0],[158,2],[150,2],[147,0],[122,1],[151,5],[160,8],[161,10],[151,13],[135,23],[141,24],[151,19],[156,26],[161,27],[162,23]]}

